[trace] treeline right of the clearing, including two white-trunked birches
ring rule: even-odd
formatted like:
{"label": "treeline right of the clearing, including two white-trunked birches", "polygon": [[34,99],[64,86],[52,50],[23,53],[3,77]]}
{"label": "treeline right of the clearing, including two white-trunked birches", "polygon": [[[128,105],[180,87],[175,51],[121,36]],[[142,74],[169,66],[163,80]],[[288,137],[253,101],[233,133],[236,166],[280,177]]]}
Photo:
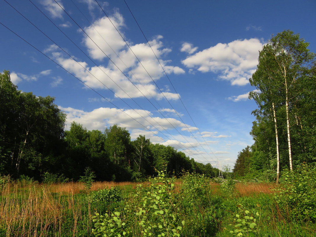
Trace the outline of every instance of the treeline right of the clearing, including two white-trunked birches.
{"label": "treeline right of the clearing, including two white-trunked birches", "polygon": [[254,144],[239,152],[236,176],[278,182],[282,170],[316,161],[316,60],[308,45],[287,30],[259,52],[249,95],[258,105]]}

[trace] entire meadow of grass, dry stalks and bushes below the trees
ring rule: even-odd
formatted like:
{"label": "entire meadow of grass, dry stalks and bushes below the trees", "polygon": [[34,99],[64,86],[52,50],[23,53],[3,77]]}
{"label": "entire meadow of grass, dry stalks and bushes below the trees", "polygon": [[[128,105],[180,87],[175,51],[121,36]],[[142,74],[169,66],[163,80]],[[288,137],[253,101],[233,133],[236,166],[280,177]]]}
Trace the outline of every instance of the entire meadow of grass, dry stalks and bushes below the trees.
{"label": "entire meadow of grass, dry stalks and bushes below the trees", "polygon": [[225,186],[189,172],[175,180],[165,171],[143,183],[94,182],[88,190],[82,182],[8,178],[1,237],[316,236],[315,166],[306,164],[284,173],[280,185]]}

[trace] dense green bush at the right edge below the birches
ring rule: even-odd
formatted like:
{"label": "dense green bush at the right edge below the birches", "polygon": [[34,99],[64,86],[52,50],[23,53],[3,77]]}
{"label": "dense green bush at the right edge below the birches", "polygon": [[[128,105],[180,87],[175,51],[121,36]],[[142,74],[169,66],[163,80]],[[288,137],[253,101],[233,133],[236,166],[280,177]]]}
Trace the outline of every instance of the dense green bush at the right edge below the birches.
{"label": "dense green bush at the right edge below the birches", "polygon": [[316,166],[302,164],[293,172],[285,171],[275,200],[284,215],[293,219],[316,221]]}

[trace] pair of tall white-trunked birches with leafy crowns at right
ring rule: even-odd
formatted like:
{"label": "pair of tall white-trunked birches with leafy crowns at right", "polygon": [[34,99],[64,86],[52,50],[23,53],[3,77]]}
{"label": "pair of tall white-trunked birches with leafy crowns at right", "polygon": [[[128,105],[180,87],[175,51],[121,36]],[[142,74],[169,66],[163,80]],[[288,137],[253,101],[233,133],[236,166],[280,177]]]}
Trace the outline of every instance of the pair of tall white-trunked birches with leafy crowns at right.
{"label": "pair of tall white-trunked birches with leafy crowns at right", "polygon": [[315,54],[307,49],[308,45],[304,39],[300,39],[299,34],[292,31],[278,33],[260,52],[258,69],[250,80],[251,84],[260,90],[257,95],[250,94],[259,104],[259,110],[267,112],[270,107],[270,114],[275,122],[277,144],[276,110],[284,107],[290,170],[293,170],[291,119],[297,118],[297,124],[300,120],[293,108],[302,94],[300,84],[309,80],[308,72],[315,59]]}

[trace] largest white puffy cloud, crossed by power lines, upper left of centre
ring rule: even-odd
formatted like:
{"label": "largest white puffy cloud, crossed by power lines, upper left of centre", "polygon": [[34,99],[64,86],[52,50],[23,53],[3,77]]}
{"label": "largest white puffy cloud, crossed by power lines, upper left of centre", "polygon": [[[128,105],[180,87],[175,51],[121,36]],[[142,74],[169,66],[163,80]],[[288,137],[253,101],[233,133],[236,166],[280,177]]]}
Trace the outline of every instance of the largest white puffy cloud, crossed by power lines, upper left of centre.
{"label": "largest white puffy cloud, crossed by power lines, upper left of centre", "polygon": [[[119,12],[115,12],[110,19],[120,31],[125,27],[124,18]],[[104,54],[106,53],[116,66],[110,61],[98,65],[89,65],[86,62],[77,63],[73,58],[61,53],[56,45],[47,47],[45,52],[51,53],[52,58],[54,58],[58,64],[74,74],[89,87],[94,89],[110,88],[114,91],[115,97],[137,98],[152,96],[158,100],[165,97],[168,100],[179,99],[179,94],[168,91],[161,93],[153,83],[153,80],[158,80],[164,76],[164,70],[167,73],[185,73],[180,67],[169,65],[170,60],[161,59],[161,57],[165,57],[166,54],[171,51],[171,49],[163,47],[161,41],[163,37],[161,35],[156,36],[149,42],[152,49],[147,43],[133,44],[128,42],[140,60],[139,62],[107,17],[96,20],[93,25],[98,32],[93,27],[86,27],[85,31],[98,46],[83,35],[83,42],[87,46],[89,54],[94,59],[103,60],[106,58]],[[123,33],[122,35],[124,36]],[[105,40],[111,45],[112,49]],[[160,58],[160,63],[164,70],[161,68],[161,65],[152,51]]]}

